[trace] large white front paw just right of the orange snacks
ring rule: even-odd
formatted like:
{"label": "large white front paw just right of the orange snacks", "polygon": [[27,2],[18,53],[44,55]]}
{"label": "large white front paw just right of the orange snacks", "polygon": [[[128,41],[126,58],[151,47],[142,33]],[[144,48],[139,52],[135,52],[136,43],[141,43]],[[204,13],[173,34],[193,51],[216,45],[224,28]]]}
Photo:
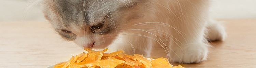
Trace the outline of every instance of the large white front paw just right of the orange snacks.
{"label": "large white front paw just right of the orange snacks", "polygon": [[182,49],[173,49],[171,60],[179,63],[200,63],[206,60],[208,53],[207,44],[192,44],[181,47]]}

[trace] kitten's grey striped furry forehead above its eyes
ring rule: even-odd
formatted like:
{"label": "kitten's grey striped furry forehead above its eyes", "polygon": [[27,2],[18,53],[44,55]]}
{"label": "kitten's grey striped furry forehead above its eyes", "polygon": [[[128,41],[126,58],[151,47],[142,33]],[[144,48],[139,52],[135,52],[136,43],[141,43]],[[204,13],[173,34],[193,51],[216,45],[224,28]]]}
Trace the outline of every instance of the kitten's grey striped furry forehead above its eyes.
{"label": "kitten's grey striped furry forehead above its eyes", "polygon": [[[45,0],[46,18],[55,28],[82,26],[88,22],[101,22],[104,16],[117,11],[129,0]],[[88,24],[85,24],[88,25]]]}

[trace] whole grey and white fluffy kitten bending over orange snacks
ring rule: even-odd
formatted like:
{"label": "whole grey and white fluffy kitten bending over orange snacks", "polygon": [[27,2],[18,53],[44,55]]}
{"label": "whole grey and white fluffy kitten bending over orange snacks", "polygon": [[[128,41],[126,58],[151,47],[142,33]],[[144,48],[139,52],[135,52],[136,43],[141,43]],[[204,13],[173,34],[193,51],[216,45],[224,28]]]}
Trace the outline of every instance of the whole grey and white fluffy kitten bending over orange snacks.
{"label": "whole grey and white fluffy kitten bending over orange snacks", "polygon": [[[83,47],[198,63],[207,40],[224,28],[208,18],[208,0],[48,0],[45,17],[60,35]],[[209,30],[209,31],[208,31]]]}

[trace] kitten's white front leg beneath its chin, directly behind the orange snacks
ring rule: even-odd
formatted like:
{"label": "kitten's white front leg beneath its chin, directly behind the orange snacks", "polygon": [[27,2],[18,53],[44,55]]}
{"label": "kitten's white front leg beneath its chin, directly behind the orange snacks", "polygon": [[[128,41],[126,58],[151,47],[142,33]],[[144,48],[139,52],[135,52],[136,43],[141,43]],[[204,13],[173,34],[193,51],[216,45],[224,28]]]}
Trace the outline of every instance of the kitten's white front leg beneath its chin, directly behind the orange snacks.
{"label": "kitten's white front leg beneath its chin, directly behind the orange snacks", "polygon": [[[124,50],[125,54],[128,55],[134,55],[134,54],[143,54],[145,57],[149,56],[150,53],[148,51],[147,45],[150,45],[150,39],[147,39],[147,37],[140,36],[143,33],[137,33],[138,35],[135,35],[134,32],[123,33],[120,36],[117,37],[117,40],[113,42],[113,44],[110,46],[110,49],[112,52],[118,51],[118,50]],[[134,33],[134,35],[131,35]],[[127,34],[127,35],[126,35]]]}

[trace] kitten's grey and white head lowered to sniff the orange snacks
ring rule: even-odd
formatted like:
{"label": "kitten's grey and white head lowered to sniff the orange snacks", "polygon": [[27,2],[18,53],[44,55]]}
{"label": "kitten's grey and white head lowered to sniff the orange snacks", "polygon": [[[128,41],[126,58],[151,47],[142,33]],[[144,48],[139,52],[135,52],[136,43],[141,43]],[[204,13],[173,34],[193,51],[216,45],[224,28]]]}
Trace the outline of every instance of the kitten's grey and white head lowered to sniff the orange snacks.
{"label": "kitten's grey and white head lowered to sniff the orange snacks", "polygon": [[139,19],[145,0],[45,0],[45,18],[81,47],[105,48]]}

